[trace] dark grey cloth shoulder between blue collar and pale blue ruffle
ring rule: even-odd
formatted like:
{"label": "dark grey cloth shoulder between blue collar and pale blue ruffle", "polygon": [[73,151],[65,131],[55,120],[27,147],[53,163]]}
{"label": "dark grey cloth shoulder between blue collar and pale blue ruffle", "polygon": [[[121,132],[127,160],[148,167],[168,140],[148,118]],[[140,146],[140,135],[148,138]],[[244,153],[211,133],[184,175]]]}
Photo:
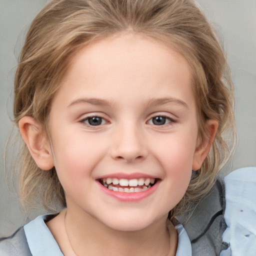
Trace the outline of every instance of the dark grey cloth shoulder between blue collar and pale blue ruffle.
{"label": "dark grey cloth shoulder between blue collar and pale blue ruffle", "polygon": [[224,194],[224,181],[219,178],[192,213],[176,216],[188,234],[192,255],[216,256],[228,247],[228,244],[222,241],[222,233],[226,229],[223,216]]}

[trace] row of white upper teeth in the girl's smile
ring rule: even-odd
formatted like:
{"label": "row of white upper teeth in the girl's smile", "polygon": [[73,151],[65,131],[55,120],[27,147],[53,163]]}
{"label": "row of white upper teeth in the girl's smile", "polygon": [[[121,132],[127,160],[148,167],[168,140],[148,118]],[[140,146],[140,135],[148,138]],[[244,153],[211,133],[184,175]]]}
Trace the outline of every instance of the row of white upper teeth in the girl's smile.
{"label": "row of white upper teeth in the girl's smile", "polygon": [[154,178],[132,178],[132,179],[126,179],[126,178],[103,178],[103,182],[106,184],[113,184],[120,186],[142,186],[142,185],[149,185],[149,183],[153,184],[155,181]]}

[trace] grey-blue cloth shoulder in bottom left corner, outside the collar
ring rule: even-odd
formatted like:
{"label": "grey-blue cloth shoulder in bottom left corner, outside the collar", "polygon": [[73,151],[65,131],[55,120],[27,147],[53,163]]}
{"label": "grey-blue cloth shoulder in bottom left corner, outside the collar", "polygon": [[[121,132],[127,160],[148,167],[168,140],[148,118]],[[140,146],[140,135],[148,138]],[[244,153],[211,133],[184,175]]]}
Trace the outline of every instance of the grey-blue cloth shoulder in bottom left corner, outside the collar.
{"label": "grey-blue cloth shoulder in bottom left corner, outside the collar", "polygon": [[11,236],[0,238],[1,256],[31,256],[23,227],[16,230]]}

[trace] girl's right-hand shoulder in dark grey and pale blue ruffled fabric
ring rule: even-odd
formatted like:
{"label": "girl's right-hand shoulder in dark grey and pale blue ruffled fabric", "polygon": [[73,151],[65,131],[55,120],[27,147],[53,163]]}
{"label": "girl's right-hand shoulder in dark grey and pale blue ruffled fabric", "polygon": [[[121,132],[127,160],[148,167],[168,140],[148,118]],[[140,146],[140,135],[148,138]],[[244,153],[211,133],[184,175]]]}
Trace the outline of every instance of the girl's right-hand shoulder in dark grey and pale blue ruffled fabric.
{"label": "girl's right-hand shoulder in dark grey and pale blue ruffled fabric", "polygon": [[256,167],[219,177],[191,214],[177,216],[192,255],[256,255]]}

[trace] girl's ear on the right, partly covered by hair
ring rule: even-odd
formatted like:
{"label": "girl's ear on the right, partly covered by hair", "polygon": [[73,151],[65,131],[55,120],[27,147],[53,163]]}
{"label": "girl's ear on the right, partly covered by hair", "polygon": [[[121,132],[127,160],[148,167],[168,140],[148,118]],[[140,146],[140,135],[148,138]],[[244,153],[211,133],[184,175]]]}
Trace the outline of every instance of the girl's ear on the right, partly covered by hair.
{"label": "girl's ear on the right, partly covered by hair", "polygon": [[206,158],[218,128],[218,121],[213,119],[207,120],[205,128],[206,137],[198,137],[197,139],[197,145],[193,156],[193,170],[198,170],[201,167],[203,160]]}

